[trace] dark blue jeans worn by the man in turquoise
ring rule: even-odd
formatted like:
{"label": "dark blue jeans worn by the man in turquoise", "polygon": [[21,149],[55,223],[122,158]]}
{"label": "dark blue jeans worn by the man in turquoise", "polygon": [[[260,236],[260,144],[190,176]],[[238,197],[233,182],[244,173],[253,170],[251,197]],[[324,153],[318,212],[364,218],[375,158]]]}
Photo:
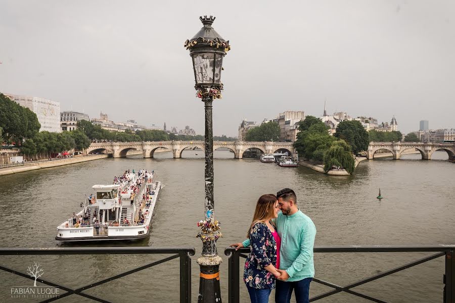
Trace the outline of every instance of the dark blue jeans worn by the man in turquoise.
{"label": "dark blue jeans worn by the man in turquoise", "polygon": [[308,303],[309,283],[312,279],[313,278],[306,278],[295,282],[280,281],[277,279],[275,302],[289,303],[291,301],[292,290],[294,290],[297,303]]}

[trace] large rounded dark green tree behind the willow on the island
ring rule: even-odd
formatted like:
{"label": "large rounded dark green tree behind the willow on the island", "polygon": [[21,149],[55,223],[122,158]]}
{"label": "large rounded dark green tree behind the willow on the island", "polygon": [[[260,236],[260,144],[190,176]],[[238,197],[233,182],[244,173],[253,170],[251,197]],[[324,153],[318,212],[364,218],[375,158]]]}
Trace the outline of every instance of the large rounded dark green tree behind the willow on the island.
{"label": "large rounded dark green tree behind the willow on the island", "polygon": [[370,143],[368,132],[359,121],[342,121],[337,126],[335,137],[343,139],[351,146],[354,154],[367,150]]}

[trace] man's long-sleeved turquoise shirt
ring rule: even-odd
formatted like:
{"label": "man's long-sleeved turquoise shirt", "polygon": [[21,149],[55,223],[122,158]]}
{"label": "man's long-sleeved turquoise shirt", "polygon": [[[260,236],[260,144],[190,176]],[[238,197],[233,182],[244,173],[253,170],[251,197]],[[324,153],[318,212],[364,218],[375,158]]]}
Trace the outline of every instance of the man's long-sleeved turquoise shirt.
{"label": "man's long-sleeved turquoise shirt", "polygon": [[[280,269],[288,273],[287,281],[314,277],[313,246],[316,227],[313,221],[300,210],[291,216],[279,212],[275,220],[281,238]],[[249,239],[243,242],[244,247],[249,245]]]}

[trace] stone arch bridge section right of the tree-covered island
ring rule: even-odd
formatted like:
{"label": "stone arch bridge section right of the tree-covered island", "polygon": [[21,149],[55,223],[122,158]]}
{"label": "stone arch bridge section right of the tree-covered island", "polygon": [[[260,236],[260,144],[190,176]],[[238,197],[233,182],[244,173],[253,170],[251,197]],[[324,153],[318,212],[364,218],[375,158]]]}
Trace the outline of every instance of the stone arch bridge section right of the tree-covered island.
{"label": "stone arch bridge section right of the tree-covered island", "polygon": [[423,142],[371,142],[366,151],[367,159],[373,159],[378,150],[389,150],[393,159],[400,159],[401,153],[409,148],[419,150],[422,160],[430,160],[436,150],[445,150],[450,161],[455,161],[455,143],[423,143]]}

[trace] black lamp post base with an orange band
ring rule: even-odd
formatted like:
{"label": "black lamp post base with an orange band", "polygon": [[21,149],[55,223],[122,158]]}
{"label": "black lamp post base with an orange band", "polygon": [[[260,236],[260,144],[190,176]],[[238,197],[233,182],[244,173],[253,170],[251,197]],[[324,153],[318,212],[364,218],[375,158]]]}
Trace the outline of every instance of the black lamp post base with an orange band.
{"label": "black lamp post base with an orange band", "polygon": [[201,268],[199,278],[198,303],[221,303],[219,286],[219,265],[222,260],[219,256],[202,256],[198,258]]}

